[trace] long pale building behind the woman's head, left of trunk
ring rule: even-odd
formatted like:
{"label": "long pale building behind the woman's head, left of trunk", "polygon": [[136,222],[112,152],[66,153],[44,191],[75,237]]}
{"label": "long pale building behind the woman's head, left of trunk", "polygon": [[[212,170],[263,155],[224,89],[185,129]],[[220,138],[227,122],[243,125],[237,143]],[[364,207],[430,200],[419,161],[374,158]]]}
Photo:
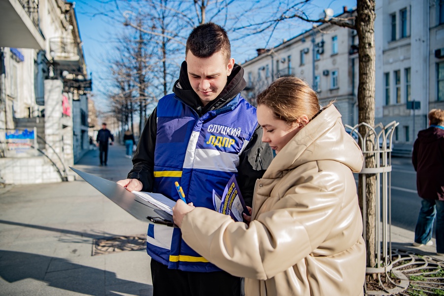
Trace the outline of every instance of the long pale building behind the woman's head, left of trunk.
{"label": "long pale building behind the woman's head, left of trunk", "polygon": [[[343,8],[341,18],[355,15]],[[242,96],[256,105],[256,96],[277,77],[295,75],[316,90],[321,105],[335,101],[344,124],[357,124],[358,38],[354,30],[319,25],[270,48],[242,64],[247,87]]]}

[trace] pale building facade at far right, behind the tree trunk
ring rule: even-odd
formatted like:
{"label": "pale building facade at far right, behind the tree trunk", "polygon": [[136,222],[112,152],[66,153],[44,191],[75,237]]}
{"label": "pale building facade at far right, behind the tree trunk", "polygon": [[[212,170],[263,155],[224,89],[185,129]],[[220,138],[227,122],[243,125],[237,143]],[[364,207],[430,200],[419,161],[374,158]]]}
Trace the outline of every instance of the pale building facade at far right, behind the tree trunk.
{"label": "pale building facade at far right, behind the tree trunk", "polygon": [[394,143],[411,148],[444,109],[444,1],[377,0],[376,120],[400,124]]}

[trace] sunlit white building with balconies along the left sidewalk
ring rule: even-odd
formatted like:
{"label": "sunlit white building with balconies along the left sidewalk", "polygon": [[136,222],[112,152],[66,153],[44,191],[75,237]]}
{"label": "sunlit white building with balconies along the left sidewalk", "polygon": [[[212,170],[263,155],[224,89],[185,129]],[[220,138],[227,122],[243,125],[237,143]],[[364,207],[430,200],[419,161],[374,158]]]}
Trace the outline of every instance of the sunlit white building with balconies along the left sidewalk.
{"label": "sunlit white building with balconies along the left sidewalk", "polygon": [[88,79],[74,4],[0,3],[0,179],[73,180],[88,149]]}

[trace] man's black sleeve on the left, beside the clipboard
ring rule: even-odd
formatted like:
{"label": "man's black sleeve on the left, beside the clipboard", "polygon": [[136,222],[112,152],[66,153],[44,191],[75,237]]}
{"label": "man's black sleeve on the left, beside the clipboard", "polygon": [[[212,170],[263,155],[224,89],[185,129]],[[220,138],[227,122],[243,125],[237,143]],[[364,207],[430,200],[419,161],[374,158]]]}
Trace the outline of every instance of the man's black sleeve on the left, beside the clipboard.
{"label": "man's black sleeve on the left, beside the clipboard", "polygon": [[128,174],[129,179],[142,182],[142,190],[151,192],[154,183],[154,148],[157,137],[157,108],[148,117],[140,135],[136,152],[133,157],[133,169]]}

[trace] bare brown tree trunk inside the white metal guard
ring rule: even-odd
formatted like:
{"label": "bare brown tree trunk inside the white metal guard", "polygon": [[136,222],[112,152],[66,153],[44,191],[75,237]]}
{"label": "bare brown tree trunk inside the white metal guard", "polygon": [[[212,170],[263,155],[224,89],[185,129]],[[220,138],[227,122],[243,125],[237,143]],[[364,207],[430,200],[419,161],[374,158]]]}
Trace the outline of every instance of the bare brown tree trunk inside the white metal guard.
{"label": "bare brown tree trunk inside the white metal guard", "polygon": [[[356,32],[359,37],[359,86],[358,86],[358,111],[359,122],[366,122],[371,126],[375,125],[375,0],[357,1]],[[366,127],[361,126],[359,133],[365,135]],[[366,150],[374,150],[373,141],[367,141]],[[364,149],[363,149],[364,150]],[[373,155],[367,156],[365,166],[372,168],[376,159]],[[363,196],[363,186],[365,186],[365,196]],[[366,203],[367,217],[366,237],[367,243],[367,266],[376,267],[375,249],[375,205],[376,205],[376,175],[366,175],[366,182],[363,184],[363,175],[359,176],[358,195],[361,210]]]}

